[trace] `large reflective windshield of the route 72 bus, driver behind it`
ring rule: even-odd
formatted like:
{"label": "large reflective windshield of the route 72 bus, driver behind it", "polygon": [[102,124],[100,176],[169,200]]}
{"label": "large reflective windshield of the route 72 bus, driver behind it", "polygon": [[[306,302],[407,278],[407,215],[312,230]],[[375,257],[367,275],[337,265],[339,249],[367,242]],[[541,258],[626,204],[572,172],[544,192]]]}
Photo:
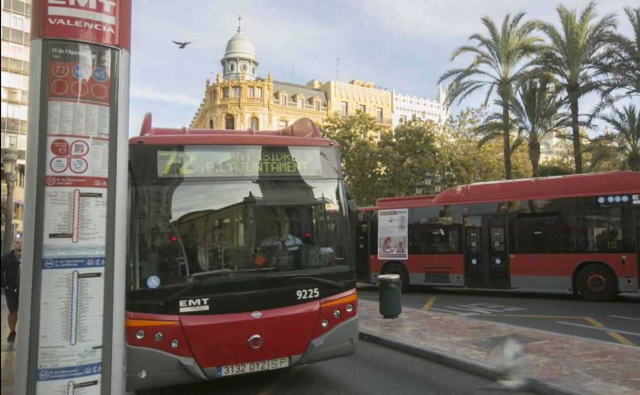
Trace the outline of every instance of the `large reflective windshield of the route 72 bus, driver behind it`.
{"label": "large reflective windshield of the route 72 bus, driver behind it", "polygon": [[351,270],[341,179],[165,177],[161,160],[130,188],[130,290]]}

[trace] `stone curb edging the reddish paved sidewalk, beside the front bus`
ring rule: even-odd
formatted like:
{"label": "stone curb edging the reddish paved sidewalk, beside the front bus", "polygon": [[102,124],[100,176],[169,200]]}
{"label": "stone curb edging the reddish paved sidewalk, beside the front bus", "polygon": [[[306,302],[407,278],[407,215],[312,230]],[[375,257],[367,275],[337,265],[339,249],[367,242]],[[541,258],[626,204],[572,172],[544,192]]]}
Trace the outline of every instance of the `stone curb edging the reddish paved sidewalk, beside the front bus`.
{"label": "stone curb edging the reddish paved sidewalk, beside the front bus", "polygon": [[[500,372],[492,369],[491,367],[484,366],[482,364],[479,364],[478,362],[474,362],[468,359],[462,359],[451,354],[443,353],[442,351],[437,351],[426,347],[414,346],[413,344],[404,343],[400,340],[390,339],[388,337],[367,333],[363,330],[360,330],[359,337],[364,341],[369,341],[371,343],[380,344],[380,346],[393,348],[394,350],[401,351],[415,357],[420,357],[422,359],[431,360],[438,364],[453,367],[454,369],[471,373],[472,375],[489,378],[491,380],[496,380],[500,376]],[[522,391],[531,391],[539,395],[586,395],[586,392],[577,392],[566,389],[564,387],[560,387],[559,385],[549,384],[538,380],[529,383],[525,388],[522,389]]]}

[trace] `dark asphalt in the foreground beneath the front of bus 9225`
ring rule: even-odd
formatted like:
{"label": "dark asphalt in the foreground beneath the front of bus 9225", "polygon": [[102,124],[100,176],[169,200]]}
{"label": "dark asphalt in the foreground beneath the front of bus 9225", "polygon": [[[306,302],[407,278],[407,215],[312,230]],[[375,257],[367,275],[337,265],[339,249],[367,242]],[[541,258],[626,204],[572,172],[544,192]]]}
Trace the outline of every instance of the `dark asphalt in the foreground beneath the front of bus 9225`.
{"label": "dark asphalt in the foreground beneath the front of bus 9225", "polygon": [[138,391],[138,395],[488,395],[503,392],[495,382],[451,367],[360,341],[351,357],[264,374]]}

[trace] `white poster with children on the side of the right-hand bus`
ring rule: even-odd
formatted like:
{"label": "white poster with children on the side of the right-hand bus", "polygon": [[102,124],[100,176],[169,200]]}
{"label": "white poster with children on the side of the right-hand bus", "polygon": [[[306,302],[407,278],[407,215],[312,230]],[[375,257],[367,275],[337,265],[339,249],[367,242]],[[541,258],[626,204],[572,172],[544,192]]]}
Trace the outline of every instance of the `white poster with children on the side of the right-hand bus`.
{"label": "white poster with children on the side of the right-hand bus", "polygon": [[408,209],[378,211],[378,259],[407,259]]}

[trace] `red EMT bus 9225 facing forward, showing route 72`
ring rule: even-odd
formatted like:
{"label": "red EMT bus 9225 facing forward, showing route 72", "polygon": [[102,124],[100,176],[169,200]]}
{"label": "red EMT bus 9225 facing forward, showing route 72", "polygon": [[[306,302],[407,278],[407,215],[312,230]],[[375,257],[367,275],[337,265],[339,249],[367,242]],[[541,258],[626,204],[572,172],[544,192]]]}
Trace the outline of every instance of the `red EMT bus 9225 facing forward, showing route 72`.
{"label": "red EMT bus 9225 facing forward, showing route 72", "polygon": [[128,391],[355,353],[357,207],[313,122],[163,129],[147,115],[129,158]]}

